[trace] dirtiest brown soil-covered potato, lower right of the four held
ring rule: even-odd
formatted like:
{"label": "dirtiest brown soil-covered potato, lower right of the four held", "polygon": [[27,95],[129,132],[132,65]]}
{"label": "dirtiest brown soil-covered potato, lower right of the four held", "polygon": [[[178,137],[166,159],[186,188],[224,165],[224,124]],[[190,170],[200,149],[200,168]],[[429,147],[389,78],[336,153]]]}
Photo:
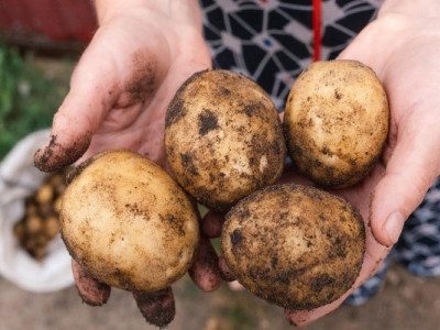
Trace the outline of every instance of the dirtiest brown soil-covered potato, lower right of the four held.
{"label": "dirtiest brown soil-covered potato, lower right of the four held", "polygon": [[361,215],[314,187],[273,185],[226,216],[224,260],[250,292],[284,308],[309,310],[341,297],[365,251]]}

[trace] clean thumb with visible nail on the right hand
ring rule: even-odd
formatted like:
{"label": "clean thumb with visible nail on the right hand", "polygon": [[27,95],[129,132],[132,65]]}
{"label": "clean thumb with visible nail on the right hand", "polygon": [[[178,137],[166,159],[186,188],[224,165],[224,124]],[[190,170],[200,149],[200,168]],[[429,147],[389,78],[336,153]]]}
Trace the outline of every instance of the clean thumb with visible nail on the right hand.
{"label": "clean thumb with visible nail on the right hand", "polygon": [[386,246],[397,242],[405,220],[420,205],[440,173],[440,138],[432,134],[438,130],[436,120],[426,116],[410,118],[406,123],[399,128],[396,139],[391,135],[391,145],[384,153],[386,173],[372,199],[373,235]]}

